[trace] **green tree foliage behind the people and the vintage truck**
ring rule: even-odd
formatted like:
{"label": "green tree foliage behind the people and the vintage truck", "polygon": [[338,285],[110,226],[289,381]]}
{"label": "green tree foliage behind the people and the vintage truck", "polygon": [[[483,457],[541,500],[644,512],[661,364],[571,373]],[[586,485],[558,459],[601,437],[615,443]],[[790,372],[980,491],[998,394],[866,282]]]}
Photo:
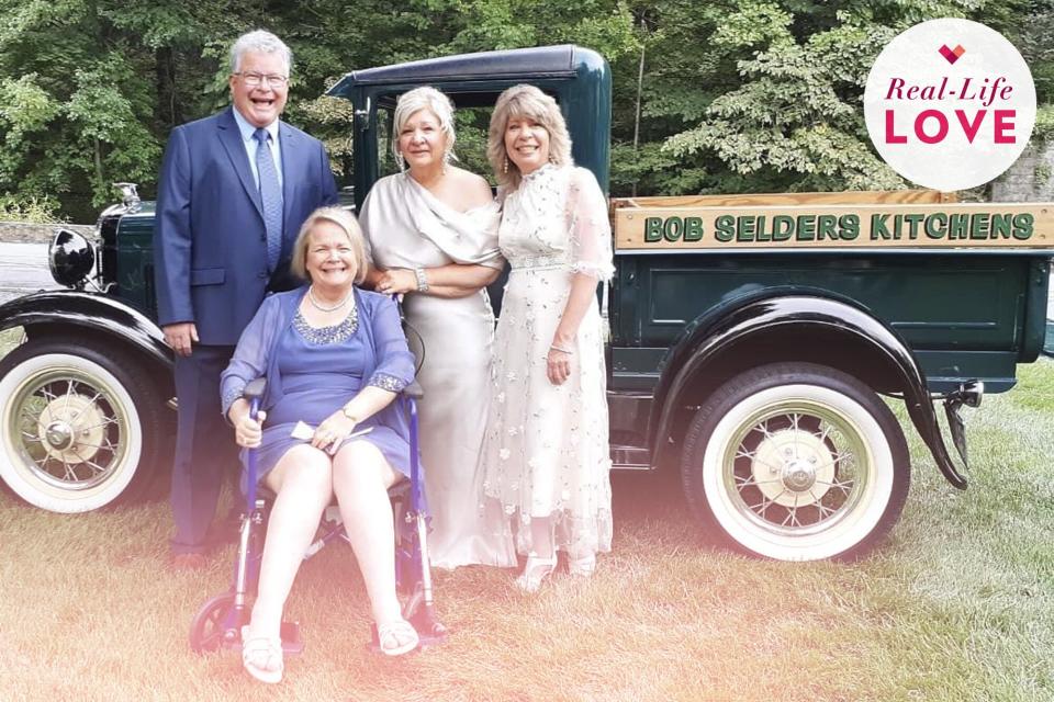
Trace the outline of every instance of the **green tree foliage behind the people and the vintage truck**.
{"label": "green tree foliage behind the people and the vintage truck", "polygon": [[[295,56],[287,118],[345,181],[351,105],[319,95],[346,71],[575,43],[612,63],[616,194],[899,188],[863,86],[889,38],[939,16],[1007,34],[1054,100],[1051,0],[0,0],[0,197],[86,220],[112,181],[152,195],[169,131],[227,103],[229,42],[259,26]],[[486,118],[459,125],[480,171]]]}

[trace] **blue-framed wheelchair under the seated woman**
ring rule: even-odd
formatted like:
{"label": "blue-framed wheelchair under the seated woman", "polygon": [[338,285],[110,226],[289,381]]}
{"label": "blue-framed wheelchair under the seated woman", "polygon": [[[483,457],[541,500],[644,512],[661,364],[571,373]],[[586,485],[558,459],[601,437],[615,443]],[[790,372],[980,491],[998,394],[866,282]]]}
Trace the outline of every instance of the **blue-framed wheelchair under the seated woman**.
{"label": "blue-framed wheelchair under the seated woman", "polygon": [[[246,385],[243,397],[249,403],[253,416],[259,411],[266,389],[266,380],[257,378]],[[407,386],[394,401],[400,404],[410,420],[410,479],[400,480],[389,489],[395,512],[395,580],[403,600],[403,619],[417,630],[419,647],[442,643],[446,627],[436,619],[433,600],[431,573],[428,567],[428,517],[425,509],[424,476],[421,472],[417,439],[417,405],[422,397],[416,382]],[[247,458],[248,486],[245,509],[238,530],[238,551],[229,589],[208,600],[194,615],[190,627],[190,647],[195,653],[242,650],[242,626],[249,623],[259,579],[264,536],[267,531],[269,500],[257,492],[256,451]],[[327,543],[347,536],[339,512],[329,508],[323,516],[318,536],[304,554],[311,558]],[[375,624],[371,624],[369,647],[380,649]],[[283,621],[282,649],[285,655],[303,652],[304,643],[298,622]]]}

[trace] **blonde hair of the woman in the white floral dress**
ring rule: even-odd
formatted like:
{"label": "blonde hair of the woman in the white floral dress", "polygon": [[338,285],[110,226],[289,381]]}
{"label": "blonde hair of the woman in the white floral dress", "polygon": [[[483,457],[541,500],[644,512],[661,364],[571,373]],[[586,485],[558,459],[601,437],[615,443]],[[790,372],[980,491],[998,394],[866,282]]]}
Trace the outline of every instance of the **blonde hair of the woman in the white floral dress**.
{"label": "blonde hair of the woman in the white floral dress", "polygon": [[[534,120],[549,133],[549,160],[557,166],[573,166],[571,135],[557,101],[534,86],[513,86],[497,98],[486,136],[486,159],[494,169],[498,185],[513,190],[523,173],[505,150],[505,127],[513,117]],[[507,165],[507,166],[506,166]]]}

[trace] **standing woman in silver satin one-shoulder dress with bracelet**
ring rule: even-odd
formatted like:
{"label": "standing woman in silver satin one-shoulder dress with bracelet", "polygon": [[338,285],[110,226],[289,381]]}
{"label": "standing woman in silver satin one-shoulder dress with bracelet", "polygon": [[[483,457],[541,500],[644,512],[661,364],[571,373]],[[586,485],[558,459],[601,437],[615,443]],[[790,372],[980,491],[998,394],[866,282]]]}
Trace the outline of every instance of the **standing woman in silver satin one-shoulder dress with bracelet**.
{"label": "standing woman in silver satin one-shoulder dress with bracelet", "polygon": [[505,265],[497,249],[497,205],[486,181],[455,167],[453,107],[434,88],[403,94],[393,148],[406,170],[373,185],[359,222],[371,271],[367,284],[402,293],[421,333],[418,381],[425,488],[434,532],[431,564],[511,567],[515,547],[484,531],[480,451],[487,419],[494,316],[484,286]]}

